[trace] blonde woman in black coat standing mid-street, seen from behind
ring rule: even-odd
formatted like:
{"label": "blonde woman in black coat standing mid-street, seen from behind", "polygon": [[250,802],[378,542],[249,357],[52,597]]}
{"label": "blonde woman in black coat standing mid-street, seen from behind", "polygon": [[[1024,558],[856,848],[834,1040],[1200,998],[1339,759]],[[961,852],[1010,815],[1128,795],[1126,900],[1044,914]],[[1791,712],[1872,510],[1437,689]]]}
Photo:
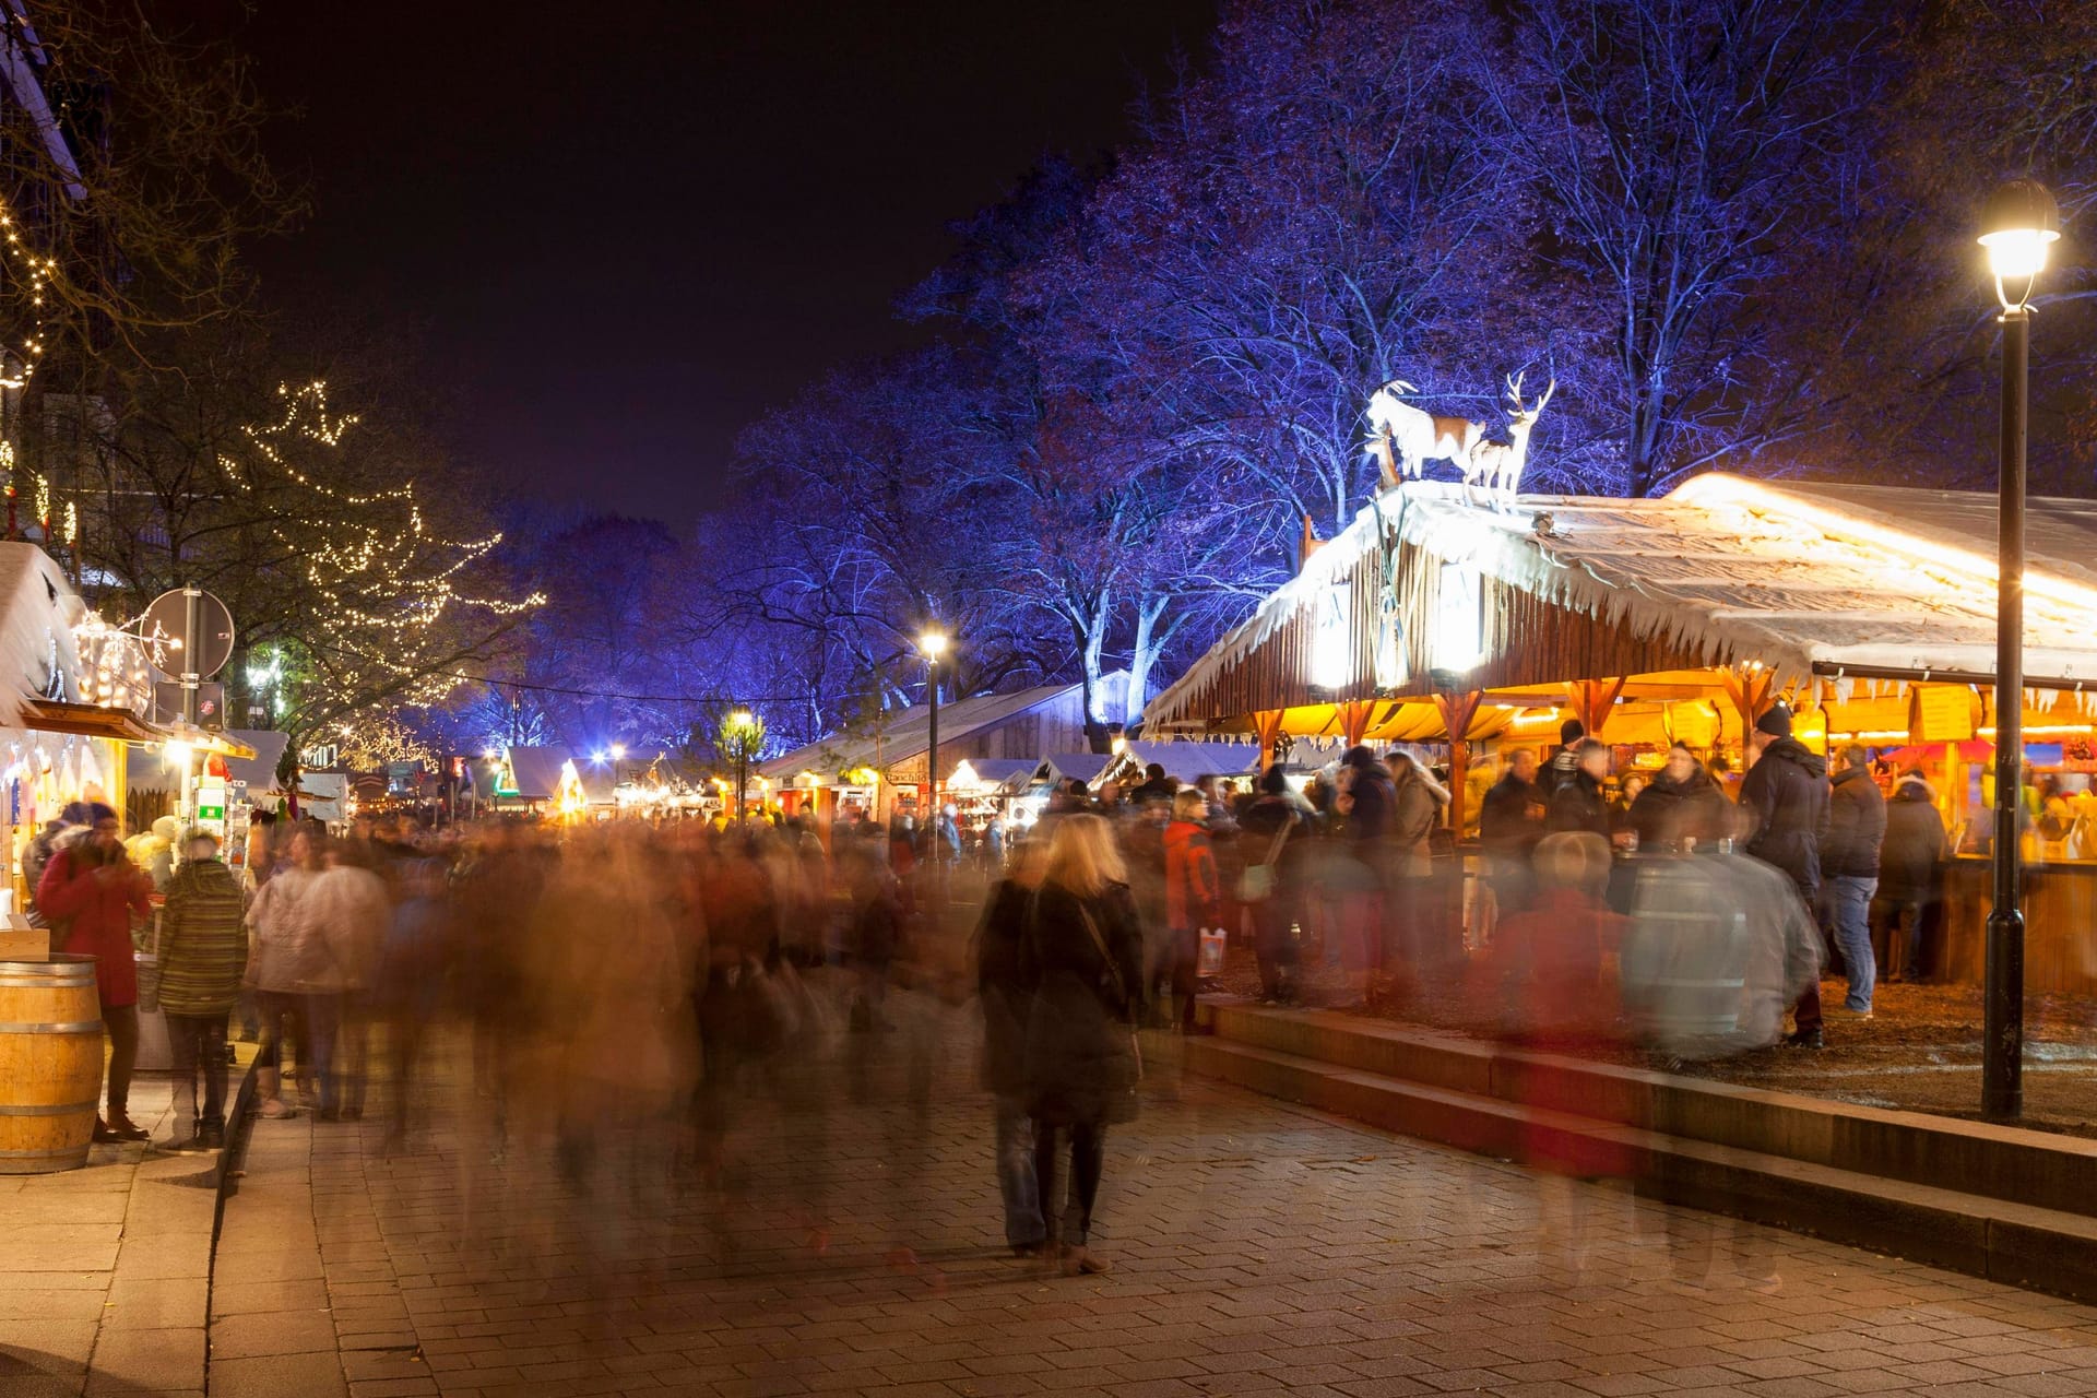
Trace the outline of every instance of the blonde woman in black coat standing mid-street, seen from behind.
{"label": "blonde woman in black coat standing mid-street, seen from behind", "polygon": [[1107,1270],[1105,1258],[1086,1247],[1093,1203],[1107,1123],[1128,1121],[1137,1107],[1143,933],[1124,878],[1107,822],[1065,815],[1019,954],[1019,981],[1034,996],[1023,1058],[1044,1218],[1053,1218],[1061,1138],[1069,1136],[1069,1201],[1061,1209],[1069,1276]]}

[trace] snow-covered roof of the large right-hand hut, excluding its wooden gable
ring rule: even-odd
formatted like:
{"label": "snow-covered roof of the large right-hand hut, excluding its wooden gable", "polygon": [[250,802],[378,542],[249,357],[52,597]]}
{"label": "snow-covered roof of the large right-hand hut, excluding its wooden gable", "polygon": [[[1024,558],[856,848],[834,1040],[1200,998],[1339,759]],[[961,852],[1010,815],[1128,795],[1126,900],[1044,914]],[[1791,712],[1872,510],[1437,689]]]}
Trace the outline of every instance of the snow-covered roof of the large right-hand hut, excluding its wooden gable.
{"label": "snow-covered roof of the large right-hand hut, excluding its wooden gable", "polygon": [[[2028,514],[2026,673],[2097,687],[2097,505],[2034,499]],[[1992,497],[1709,474],[1661,499],[1525,497],[1497,511],[1455,484],[1405,482],[1151,700],[1145,727],[1220,717],[1204,711],[1218,675],[1384,537],[1705,664],[1761,662],[1780,683],[1816,667],[1994,671]],[[1401,599],[1407,633],[1432,627],[1422,608]]]}

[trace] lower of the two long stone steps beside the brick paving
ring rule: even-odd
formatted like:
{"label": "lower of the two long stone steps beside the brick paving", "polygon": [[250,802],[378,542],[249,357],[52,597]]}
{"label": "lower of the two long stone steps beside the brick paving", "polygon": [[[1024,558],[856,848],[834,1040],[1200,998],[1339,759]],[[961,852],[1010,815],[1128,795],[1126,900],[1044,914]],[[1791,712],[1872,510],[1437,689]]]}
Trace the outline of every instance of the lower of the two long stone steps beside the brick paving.
{"label": "lower of the two long stone steps beside the brick paving", "polygon": [[1225,1037],[1189,1037],[1185,1063],[1267,1096],[1501,1159],[1518,1159],[1537,1134],[1610,1146],[1636,1161],[1642,1195],[2097,1302],[2097,1220],[2084,1214],[1529,1109]]}

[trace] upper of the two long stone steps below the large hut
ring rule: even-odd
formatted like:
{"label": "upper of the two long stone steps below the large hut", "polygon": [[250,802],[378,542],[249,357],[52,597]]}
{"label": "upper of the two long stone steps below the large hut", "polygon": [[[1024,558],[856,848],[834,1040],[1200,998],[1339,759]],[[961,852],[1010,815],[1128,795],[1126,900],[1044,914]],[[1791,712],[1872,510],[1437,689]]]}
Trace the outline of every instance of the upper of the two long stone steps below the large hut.
{"label": "upper of the two long stone steps below the large hut", "polygon": [[1208,1002],[1216,1037],[1510,1105],[2005,1203],[2097,1216],[2097,1140],[1525,1052],[1334,1010]]}

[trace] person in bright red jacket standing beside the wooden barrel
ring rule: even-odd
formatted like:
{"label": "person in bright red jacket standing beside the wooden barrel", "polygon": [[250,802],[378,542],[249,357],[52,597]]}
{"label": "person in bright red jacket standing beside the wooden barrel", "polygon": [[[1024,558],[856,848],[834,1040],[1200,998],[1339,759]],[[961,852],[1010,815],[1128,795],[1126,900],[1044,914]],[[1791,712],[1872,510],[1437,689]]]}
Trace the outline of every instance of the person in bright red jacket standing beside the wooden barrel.
{"label": "person in bright red jacket standing beside the wooden barrel", "polygon": [[138,962],[132,960],[132,914],[153,916],[153,882],[117,840],[117,813],[88,807],[88,828],[61,838],[36,884],[36,905],[59,929],[57,949],[92,956],[109,1035],[109,1111],[94,1121],[94,1140],[145,1140],[130,1119],[130,1075],[138,1061]]}

